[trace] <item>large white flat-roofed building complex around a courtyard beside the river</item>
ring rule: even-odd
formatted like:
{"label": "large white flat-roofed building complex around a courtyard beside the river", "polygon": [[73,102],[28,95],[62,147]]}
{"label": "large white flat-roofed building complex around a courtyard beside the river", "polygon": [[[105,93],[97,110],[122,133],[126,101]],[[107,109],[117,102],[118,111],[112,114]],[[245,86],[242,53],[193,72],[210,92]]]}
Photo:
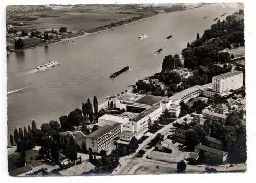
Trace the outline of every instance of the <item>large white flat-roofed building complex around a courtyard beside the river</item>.
{"label": "large white flat-roofed building complex around a courtyard beside the river", "polygon": [[116,107],[125,112],[99,117],[99,129],[86,136],[87,150],[99,153],[110,148],[117,138],[124,143],[129,143],[133,136],[139,139],[148,130],[148,124],[166,109],[176,116],[180,114],[177,100],[152,95],[125,94],[116,99]]}

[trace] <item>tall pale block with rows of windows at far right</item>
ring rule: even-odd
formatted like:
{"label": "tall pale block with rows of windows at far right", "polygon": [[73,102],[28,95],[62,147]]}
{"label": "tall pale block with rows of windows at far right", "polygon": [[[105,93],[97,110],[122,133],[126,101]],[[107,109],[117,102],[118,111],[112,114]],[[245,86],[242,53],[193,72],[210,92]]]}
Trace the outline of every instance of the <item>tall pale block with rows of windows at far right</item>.
{"label": "tall pale block with rows of windows at far right", "polygon": [[212,77],[214,92],[227,92],[239,89],[243,86],[243,72],[242,71],[230,71],[224,74],[220,74]]}

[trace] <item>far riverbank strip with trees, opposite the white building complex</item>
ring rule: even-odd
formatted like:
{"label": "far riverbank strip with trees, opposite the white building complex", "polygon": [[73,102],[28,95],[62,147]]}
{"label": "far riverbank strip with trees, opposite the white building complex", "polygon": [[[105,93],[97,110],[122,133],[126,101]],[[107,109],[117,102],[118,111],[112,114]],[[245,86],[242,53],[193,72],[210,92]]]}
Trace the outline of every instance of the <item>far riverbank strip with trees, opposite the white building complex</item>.
{"label": "far riverbank strip with trees, opposite the white building complex", "polygon": [[[131,24],[135,24],[135,23],[138,23],[138,22],[141,22],[141,21],[145,21],[146,19],[151,18],[155,15],[156,14],[152,14],[151,16],[145,16],[145,17],[142,17],[141,19],[137,19],[137,20],[135,18],[135,19],[129,19],[129,20],[126,20],[126,21],[123,21],[123,22],[120,21],[117,24],[113,24],[112,26],[106,25],[106,26],[102,26],[102,27],[98,27],[98,28],[93,28],[93,29],[89,30],[88,32],[87,31],[86,32],[79,32],[77,34],[71,34],[71,35],[68,35],[68,36],[63,36],[63,37],[51,39],[51,40],[48,40],[47,42],[28,45],[23,49],[16,50],[16,52],[22,52],[24,50],[29,50],[29,49],[33,49],[33,48],[37,48],[37,47],[42,47],[42,46],[47,46],[47,45],[50,45],[50,44],[57,44],[57,43],[65,42],[65,41],[68,41],[68,40],[80,38],[80,37],[83,37],[83,36],[88,36],[88,35],[93,35],[93,34],[96,34],[96,33],[104,32],[104,31],[114,30],[114,29],[121,28],[121,27],[124,27],[124,26],[127,26],[127,25],[131,25]],[[11,52],[11,53],[13,53],[13,52]],[[8,53],[8,54],[10,54],[10,53]]]}

